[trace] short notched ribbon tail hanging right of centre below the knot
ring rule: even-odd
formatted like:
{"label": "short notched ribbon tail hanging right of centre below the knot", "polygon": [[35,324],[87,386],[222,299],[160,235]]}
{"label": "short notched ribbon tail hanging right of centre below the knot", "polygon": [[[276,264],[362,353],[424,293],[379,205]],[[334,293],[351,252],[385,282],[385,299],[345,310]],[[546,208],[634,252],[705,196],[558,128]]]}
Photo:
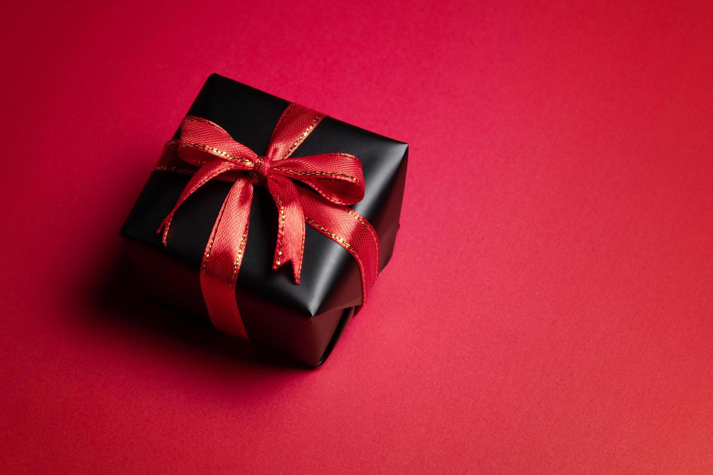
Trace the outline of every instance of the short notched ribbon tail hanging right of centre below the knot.
{"label": "short notched ribbon tail hanging right of centre below the knot", "polygon": [[304,214],[299,204],[299,193],[292,180],[280,176],[268,178],[267,188],[277,206],[277,244],[272,268],[292,262],[294,283],[299,284],[304,255]]}

